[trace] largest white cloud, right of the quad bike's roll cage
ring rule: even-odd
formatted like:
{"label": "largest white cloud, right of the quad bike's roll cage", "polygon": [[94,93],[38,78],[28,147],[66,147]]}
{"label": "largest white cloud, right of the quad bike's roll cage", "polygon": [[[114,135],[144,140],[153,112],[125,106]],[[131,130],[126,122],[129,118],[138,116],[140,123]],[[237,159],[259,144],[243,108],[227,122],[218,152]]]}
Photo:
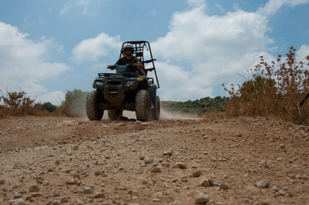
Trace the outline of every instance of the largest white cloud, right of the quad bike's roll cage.
{"label": "largest white cloud, right of the quad bike's roll cage", "polygon": [[[273,43],[267,37],[271,30],[267,17],[240,9],[224,16],[208,16],[200,8],[177,12],[169,28],[166,36],[151,44],[157,58],[166,62],[164,69],[173,69],[160,77],[171,81],[179,74],[178,83],[162,86],[165,98],[188,99],[186,92],[190,99],[227,95],[221,84],[243,81],[238,74],[246,76]],[[180,80],[182,75],[186,77]]]}

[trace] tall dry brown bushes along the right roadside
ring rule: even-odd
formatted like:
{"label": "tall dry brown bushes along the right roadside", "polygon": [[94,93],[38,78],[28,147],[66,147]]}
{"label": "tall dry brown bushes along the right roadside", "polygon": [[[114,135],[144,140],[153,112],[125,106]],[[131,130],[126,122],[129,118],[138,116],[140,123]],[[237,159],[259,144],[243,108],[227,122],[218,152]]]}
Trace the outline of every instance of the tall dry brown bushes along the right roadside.
{"label": "tall dry brown bushes along the right roadside", "polygon": [[[306,57],[309,60],[309,55]],[[230,100],[225,103],[226,114],[280,118],[296,124],[309,124],[309,63],[297,61],[295,49],[290,48],[284,61],[260,63],[248,70],[251,79],[238,89],[232,85]],[[223,85],[224,86],[224,85]]]}

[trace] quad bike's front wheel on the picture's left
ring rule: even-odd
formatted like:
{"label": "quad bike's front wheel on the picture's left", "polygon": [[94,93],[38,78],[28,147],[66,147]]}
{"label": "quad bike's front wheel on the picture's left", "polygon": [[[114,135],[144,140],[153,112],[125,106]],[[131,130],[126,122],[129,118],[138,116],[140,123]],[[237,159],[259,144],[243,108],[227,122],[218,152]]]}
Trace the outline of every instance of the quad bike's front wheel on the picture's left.
{"label": "quad bike's front wheel on the picture's left", "polygon": [[97,104],[99,99],[99,92],[93,90],[88,93],[86,98],[86,113],[89,120],[101,120],[103,111],[99,111]]}

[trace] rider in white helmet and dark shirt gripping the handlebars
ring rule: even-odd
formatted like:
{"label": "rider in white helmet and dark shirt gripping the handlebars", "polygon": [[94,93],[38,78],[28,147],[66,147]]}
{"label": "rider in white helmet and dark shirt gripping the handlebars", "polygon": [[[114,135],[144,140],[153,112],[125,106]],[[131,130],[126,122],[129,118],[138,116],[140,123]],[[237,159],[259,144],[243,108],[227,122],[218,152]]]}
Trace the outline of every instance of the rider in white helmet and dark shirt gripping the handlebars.
{"label": "rider in white helmet and dark shirt gripping the handlebars", "polygon": [[[125,66],[126,64],[140,64],[140,66],[131,66],[129,68],[129,72],[138,72],[139,70],[141,74],[147,77],[147,75],[145,74],[143,70],[144,66],[142,62],[140,61],[140,59],[138,59],[136,56],[133,55],[134,46],[132,44],[126,44],[125,46],[123,46],[123,50],[124,50],[124,56],[121,57],[118,61],[116,61],[115,65]],[[112,68],[112,66],[109,65],[108,69],[114,70],[115,68]]]}

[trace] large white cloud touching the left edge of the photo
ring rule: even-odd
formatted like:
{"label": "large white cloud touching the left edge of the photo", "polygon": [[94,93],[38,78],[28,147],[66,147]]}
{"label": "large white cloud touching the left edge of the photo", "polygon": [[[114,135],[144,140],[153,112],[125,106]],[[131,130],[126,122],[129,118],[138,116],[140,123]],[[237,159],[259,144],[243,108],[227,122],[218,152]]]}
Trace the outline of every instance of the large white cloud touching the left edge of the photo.
{"label": "large white cloud touching the left edge of the photo", "polygon": [[48,62],[51,41],[47,38],[34,42],[16,27],[0,22],[0,90],[27,93],[34,97],[44,94],[45,80],[55,79],[71,67],[60,62]]}

